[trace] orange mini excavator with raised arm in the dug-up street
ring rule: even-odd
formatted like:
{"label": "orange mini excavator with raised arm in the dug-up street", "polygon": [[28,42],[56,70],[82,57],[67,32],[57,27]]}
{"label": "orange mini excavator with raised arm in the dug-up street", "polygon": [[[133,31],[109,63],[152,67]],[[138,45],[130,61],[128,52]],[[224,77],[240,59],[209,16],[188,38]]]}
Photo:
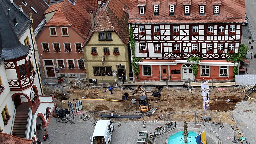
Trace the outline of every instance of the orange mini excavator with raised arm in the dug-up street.
{"label": "orange mini excavator with raised arm in the dug-up street", "polygon": [[143,95],[139,96],[140,111],[137,111],[136,113],[148,116],[152,115],[157,110],[157,107],[151,108],[150,104],[148,103],[148,96],[146,92],[139,85],[137,86],[136,90],[133,92],[132,95],[137,94],[139,90],[141,90]]}

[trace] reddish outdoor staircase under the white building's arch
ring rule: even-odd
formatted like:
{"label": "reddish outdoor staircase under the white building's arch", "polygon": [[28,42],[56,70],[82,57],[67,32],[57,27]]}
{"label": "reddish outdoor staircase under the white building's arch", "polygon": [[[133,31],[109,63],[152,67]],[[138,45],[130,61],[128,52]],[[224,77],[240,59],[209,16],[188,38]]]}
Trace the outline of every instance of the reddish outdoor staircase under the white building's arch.
{"label": "reddish outdoor staircase under the white building's arch", "polygon": [[24,102],[17,108],[17,113],[14,119],[13,131],[12,135],[24,138],[26,127],[27,127],[27,119],[28,119],[28,103]]}

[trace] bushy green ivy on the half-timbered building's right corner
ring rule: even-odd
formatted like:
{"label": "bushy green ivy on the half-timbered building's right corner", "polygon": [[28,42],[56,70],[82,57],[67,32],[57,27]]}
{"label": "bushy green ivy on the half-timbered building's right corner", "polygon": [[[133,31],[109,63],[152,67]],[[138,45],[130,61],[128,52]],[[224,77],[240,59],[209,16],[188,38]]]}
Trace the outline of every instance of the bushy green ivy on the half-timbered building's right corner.
{"label": "bushy green ivy on the half-timbered building's right corner", "polygon": [[[239,63],[242,58],[245,58],[246,53],[249,51],[248,46],[246,46],[245,44],[241,44],[240,45],[240,49],[238,50],[238,53],[232,53],[229,54],[227,53],[227,55],[229,56],[227,58],[227,61],[233,61],[233,63]],[[233,75],[237,75],[238,74],[238,66],[233,66]]]}

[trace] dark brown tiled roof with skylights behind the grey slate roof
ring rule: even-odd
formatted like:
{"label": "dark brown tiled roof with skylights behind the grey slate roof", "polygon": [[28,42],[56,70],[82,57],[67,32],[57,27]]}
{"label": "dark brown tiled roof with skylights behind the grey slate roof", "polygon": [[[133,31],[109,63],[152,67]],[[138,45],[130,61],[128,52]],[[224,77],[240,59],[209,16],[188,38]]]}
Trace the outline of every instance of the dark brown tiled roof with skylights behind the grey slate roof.
{"label": "dark brown tiled roof with skylights behind the grey slate roof", "polygon": [[[49,7],[49,4],[44,0],[25,0],[27,5],[22,3],[22,0],[13,0],[14,3],[18,5],[22,5],[23,12],[25,12],[29,16],[29,12],[32,13],[33,17],[33,30],[35,30],[41,21],[45,18],[44,12]],[[33,7],[37,13],[35,13],[31,7]]]}

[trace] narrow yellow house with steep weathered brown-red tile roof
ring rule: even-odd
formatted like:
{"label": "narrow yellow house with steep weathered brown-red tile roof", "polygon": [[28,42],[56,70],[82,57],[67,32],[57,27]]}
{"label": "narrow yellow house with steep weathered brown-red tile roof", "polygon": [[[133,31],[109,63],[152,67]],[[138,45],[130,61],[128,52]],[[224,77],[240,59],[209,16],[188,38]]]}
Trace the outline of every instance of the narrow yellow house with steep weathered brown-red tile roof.
{"label": "narrow yellow house with steep weathered brown-red tile roof", "polygon": [[[83,45],[88,82],[122,82],[121,75],[132,77],[128,14],[129,0],[108,0],[91,15],[92,28]],[[125,9],[125,10],[123,10]],[[91,12],[92,13],[92,12]],[[126,79],[127,79],[126,78]],[[129,78],[128,78],[129,80]]]}

